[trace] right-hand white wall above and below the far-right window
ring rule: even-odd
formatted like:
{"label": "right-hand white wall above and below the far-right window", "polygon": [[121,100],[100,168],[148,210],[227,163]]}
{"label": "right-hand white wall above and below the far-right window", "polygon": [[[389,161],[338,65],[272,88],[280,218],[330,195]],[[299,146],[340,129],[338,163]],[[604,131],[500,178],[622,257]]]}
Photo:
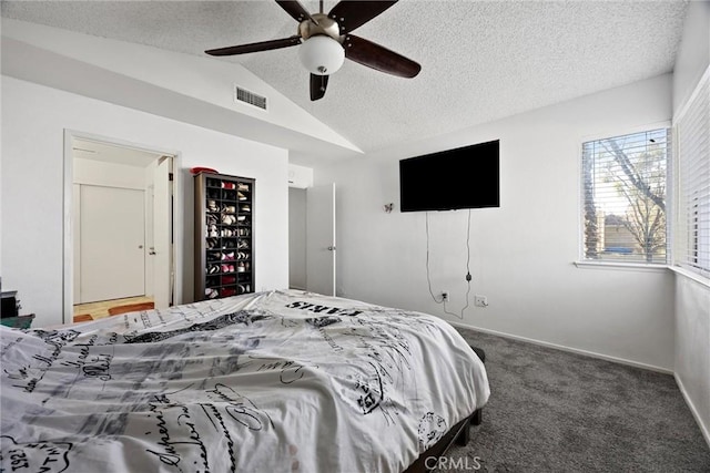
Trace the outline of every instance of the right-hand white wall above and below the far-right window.
{"label": "right-hand white wall above and below the far-right window", "polygon": [[[673,72],[678,112],[710,66],[710,2],[688,7]],[[707,281],[710,284],[710,281]],[[676,379],[710,444],[710,287],[676,275]]]}

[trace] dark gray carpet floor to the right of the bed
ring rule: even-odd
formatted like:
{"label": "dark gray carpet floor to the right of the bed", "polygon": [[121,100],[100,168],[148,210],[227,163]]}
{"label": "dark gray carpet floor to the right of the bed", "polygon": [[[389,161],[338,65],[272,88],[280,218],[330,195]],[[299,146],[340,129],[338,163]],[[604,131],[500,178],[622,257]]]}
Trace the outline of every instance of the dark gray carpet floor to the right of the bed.
{"label": "dark gray carpet floor to the right of the bed", "polygon": [[672,376],[458,330],[486,351],[491,393],[438,472],[710,472]]}

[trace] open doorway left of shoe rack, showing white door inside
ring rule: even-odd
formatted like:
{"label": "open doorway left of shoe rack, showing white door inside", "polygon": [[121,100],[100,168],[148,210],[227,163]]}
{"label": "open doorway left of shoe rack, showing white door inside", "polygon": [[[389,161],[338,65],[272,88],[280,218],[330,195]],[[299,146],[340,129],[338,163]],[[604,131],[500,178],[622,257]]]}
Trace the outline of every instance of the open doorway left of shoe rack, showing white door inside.
{"label": "open doorway left of shoe rack, showing white door inside", "polygon": [[64,323],[173,305],[176,156],[71,132],[64,154]]}

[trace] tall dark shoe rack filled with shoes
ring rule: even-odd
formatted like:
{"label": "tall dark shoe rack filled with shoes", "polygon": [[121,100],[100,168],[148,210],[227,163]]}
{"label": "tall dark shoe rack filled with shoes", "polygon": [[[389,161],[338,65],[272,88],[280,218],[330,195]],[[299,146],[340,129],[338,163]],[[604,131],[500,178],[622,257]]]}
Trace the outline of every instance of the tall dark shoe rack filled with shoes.
{"label": "tall dark shoe rack filled with shoes", "polygon": [[195,181],[195,300],[254,291],[254,179],[200,173]]}

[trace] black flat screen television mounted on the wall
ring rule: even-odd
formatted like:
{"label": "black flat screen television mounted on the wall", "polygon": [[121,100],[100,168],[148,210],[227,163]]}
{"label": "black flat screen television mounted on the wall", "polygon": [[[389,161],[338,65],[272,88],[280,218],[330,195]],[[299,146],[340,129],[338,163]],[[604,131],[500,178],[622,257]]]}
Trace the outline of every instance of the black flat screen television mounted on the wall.
{"label": "black flat screen television mounted on the wall", "polygon": [[399,161],[402,212],[500,207],[499,140]]}

